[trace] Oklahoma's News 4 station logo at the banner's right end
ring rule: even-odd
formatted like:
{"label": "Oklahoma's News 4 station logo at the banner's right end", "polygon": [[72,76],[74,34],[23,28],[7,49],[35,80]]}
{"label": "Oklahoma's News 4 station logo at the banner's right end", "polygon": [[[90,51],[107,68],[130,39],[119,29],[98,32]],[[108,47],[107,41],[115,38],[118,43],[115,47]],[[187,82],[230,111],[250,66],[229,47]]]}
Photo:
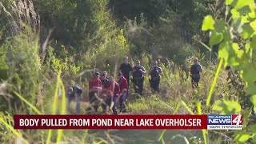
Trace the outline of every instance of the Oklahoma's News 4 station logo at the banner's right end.
{"label": "Oklahoma's News 4 station logo at the banner's right end", "polygon": [[242,115],[208,115],[207,130],[242,130]]}

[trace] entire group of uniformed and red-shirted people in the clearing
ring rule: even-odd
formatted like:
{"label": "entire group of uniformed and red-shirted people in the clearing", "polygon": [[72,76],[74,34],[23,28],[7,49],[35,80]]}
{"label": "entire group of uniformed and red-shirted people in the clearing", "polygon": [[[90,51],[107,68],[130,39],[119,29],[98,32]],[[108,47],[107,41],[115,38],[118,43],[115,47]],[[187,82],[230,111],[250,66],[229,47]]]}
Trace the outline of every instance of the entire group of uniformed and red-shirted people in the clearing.
{"label": "entire group of uniformed and red-shirted people in the clearing", "polygon": [[[132,74],[132,78],[130,78],[130,73]],[[130,80],[134,84],[135,93],[142,95],[144,74],[146,73],[150,75],[151,90],[153,92],[160,92],[160,76],[163,75],[163,72],[161,67],[158,66],[157,61],[154,61],[153,66],[146,72],[139,60],[137,60],[135,66],[132,67],[128,62],[128,57],[125,57],[124,62],[119,68],[117,81],[115,81],[113,77],[108,77],[106,71],[103,71],[102,74],[95,72],[89,82],[90,107],[87,110],[94,109],[98,111],[98,106],[102,106],[102,113],[106,113],[106,110],[110,108],[113,110],[113,113],[117,115],[119,107],[119,113],[126,113],[125,101],[129,93]],[[202,66],[198,64],[198,58],[194,58],[194,65],[190,68],[193,88],[198,87],[200,73],[202,73]],[[68,110],[70,110],[70,102],[74,98],[77,100],[76,113],[79,114],[82,89],[78,86],[70,87]],[[116,106],[117,102],[119,106]]]}

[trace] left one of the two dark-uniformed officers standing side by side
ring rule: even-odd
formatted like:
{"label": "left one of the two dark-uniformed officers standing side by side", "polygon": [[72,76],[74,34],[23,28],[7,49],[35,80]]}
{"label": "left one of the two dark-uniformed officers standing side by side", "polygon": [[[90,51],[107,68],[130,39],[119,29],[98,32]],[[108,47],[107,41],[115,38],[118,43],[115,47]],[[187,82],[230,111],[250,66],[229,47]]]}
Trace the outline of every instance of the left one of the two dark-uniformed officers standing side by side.
{"label": "left one of the two dark-uniformed officers standing side by side", "polygon": [[135,93],[138,93],[142,96],[143,94],[143,84],[144,84],[144,74],[146,74],[146,70],[143,66],[141,66],[141,62],[139,60],[136,61],[136,66],[133,68],[133,82],[134,82],[134,90]]}

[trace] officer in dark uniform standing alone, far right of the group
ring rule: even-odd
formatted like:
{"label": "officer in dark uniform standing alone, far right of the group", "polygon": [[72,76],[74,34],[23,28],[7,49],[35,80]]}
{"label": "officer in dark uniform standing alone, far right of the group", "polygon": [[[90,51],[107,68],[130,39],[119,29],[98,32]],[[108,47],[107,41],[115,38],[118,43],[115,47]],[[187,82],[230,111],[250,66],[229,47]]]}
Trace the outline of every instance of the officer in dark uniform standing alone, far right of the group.
{"label": "officer in dark uniform standing alone, far right of the group", "polygon": [[198,88],[200,73],[202,73],[202,66],[198,63],[198,58],[194,58],[194,65],[190,68],[191,84],[193,89]]}

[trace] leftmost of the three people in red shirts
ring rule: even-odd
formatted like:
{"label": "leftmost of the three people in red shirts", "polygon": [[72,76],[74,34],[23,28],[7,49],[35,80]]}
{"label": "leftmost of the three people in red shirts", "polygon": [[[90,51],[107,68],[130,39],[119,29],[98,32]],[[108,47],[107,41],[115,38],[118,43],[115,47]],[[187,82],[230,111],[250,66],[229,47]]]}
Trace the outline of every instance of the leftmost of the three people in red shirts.
{"label": "leftmost of the three people in red shirts", "polygon": [[[97,95],[99,90],[102,90],[102,81],[99,79],[99,73],[95,72],[94,77],[89,82],[89,101],[95,111],[98,111]],[[89,107],[87,110],[91,110],[91,108]]]}

